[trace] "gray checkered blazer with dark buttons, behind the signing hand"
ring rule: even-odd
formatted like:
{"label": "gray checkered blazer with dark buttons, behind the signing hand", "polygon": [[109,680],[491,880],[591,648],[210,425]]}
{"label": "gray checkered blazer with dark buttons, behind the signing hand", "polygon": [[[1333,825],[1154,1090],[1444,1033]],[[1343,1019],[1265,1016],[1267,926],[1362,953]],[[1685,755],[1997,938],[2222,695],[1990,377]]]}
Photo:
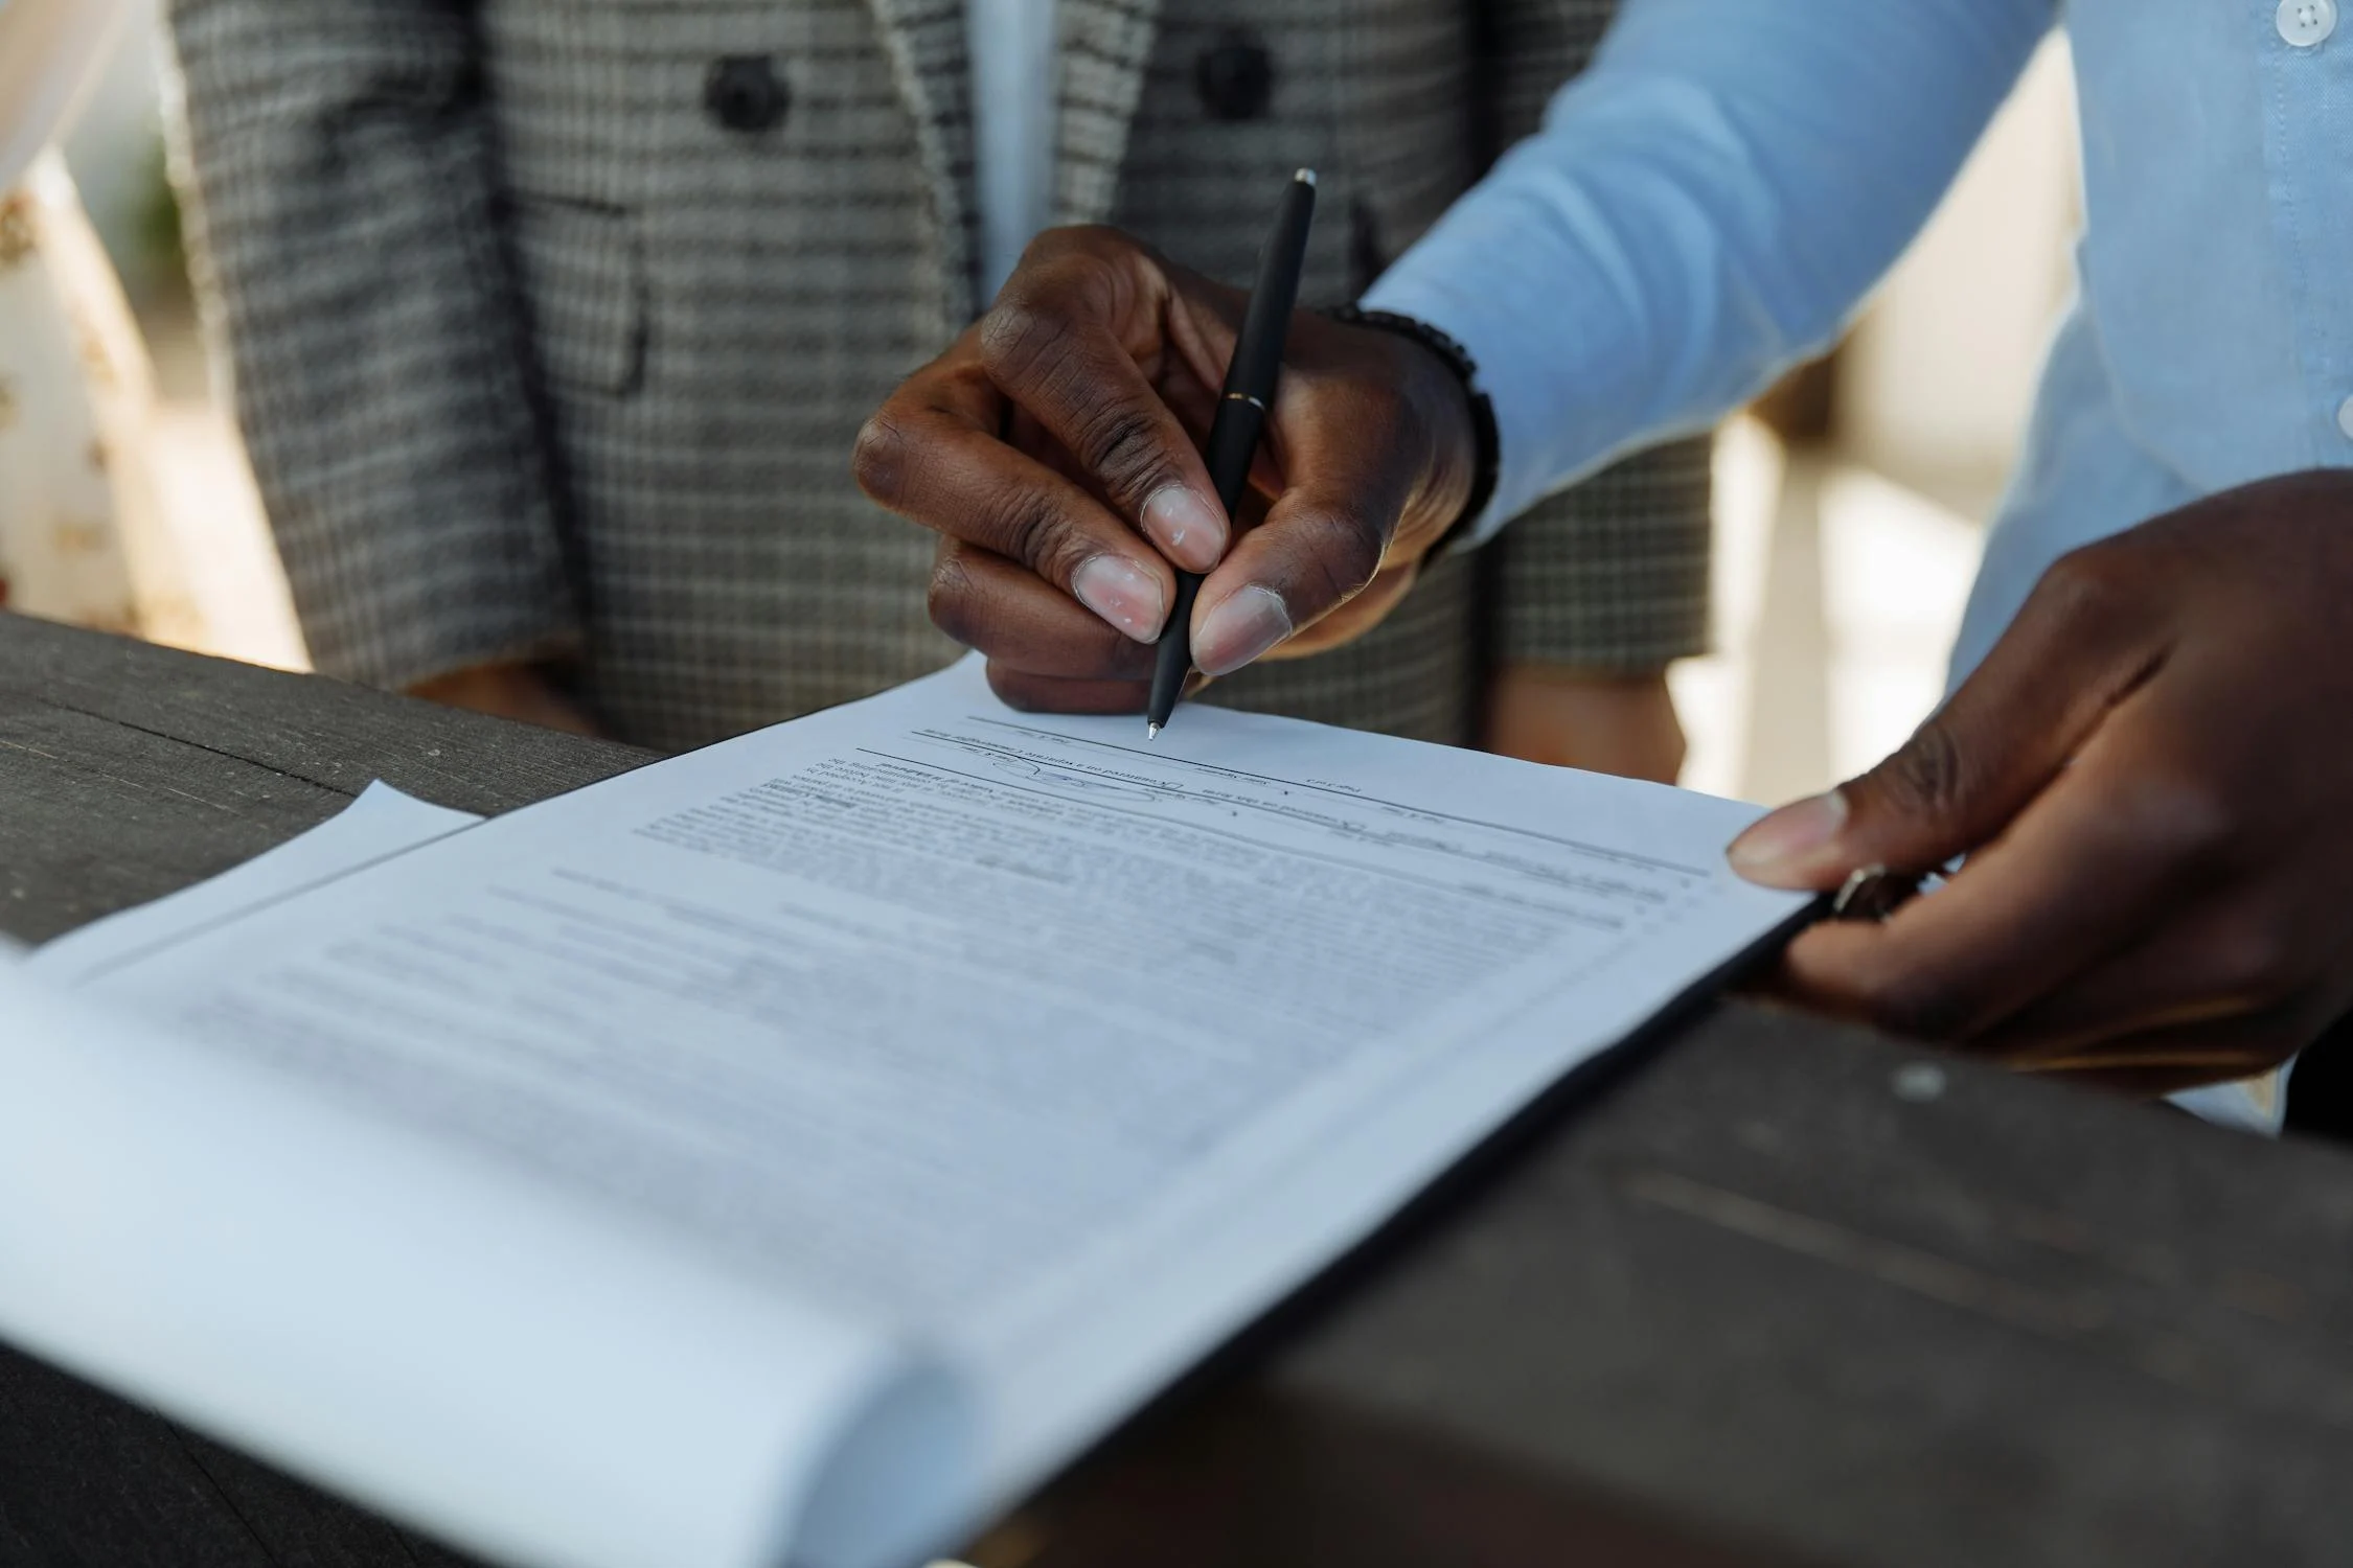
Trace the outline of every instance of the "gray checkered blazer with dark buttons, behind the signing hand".
{"label": "gray checkered blazer with dark buttons, behind the signing hand", "polygon": [[[1061,0],[1056,221],[1245,280],[1322,174],[1353,299],[1607,0]],[[979,308],[965,0],[174,0],[200,284],[318,668],[579,658],[682,748],[953,656],[859,421]],[[1697,651],[1685,444],[1219,701],[1466,741],[1482,661]],[[1501,557],[1501,559],[1499,559]]]}

